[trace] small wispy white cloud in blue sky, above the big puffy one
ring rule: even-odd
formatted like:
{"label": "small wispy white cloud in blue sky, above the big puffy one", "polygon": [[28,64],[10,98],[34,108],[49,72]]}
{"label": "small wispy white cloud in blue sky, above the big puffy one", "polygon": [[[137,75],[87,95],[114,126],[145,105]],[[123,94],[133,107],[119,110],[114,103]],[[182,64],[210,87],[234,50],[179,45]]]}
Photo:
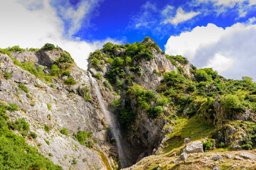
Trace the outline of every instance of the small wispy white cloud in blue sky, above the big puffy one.
{"label": "small wispy white cloud in blue sky, above the big puffy one", "polygon": [[192,12],[189,12],[189,13],[185,13],[182,8],[178,8],[176,16],[174,18],[168,18],[168,19],[164,20],[164,23],[165,24],[166,23],[171,23],[171,24],[176,26],[176,25],[178,25],[178,23],[188,21],[191,18],[193,18],[194,16],[197,16],[199,14],[200,14],[199,11],[198,12],[193,12],[192,11]]}

